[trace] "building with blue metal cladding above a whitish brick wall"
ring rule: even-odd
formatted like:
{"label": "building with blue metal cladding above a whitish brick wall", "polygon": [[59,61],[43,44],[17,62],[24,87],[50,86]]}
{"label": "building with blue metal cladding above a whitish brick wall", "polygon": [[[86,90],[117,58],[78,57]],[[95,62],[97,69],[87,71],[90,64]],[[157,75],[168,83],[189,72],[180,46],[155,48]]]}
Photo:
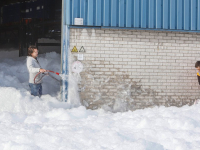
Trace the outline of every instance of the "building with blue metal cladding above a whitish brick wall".
{"label": "building with blue metal cladding above a whitish brick wall", "polygon": [[63,0],[62,68],[70,72],[68,59],[83,64],[82,104],[114,111],[193,104],[199,12],[198,0]]}

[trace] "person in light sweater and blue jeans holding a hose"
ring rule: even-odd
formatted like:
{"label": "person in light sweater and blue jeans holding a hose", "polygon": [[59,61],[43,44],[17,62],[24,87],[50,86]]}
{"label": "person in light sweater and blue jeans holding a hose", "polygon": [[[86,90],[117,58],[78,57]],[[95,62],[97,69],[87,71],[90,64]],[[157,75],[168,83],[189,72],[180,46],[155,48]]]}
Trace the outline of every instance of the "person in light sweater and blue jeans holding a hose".
{"label": "person in light sweater and blue jeans holding a hose", "polygon": [[31,89],[31,95],[39,96],[42,95],[42,82],[38,81],[40,79],[40,75],[35,79],[37,84],[34,83],[34,78],[39,72],[46,72],[45,69],[42,69],[40,63],[37,60],[38,49],[36,46],[29,46],[28,48],[28,56],[27,56],[27,68],[29,71],[29,87]]}

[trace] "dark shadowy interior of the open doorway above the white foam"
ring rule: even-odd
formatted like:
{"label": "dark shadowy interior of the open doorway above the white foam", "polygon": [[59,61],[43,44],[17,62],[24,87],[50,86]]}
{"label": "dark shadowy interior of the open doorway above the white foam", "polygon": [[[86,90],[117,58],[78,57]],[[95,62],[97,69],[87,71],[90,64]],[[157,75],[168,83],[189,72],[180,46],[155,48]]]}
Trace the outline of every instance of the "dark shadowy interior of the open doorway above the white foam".
{"label": "dark shadowy interior of the open doorway above the white foam", "polygon": [[19,56],[27,55],[29,45],[60,53],[61,5],[61,0],[1,1],[0,48],[19,49]]}

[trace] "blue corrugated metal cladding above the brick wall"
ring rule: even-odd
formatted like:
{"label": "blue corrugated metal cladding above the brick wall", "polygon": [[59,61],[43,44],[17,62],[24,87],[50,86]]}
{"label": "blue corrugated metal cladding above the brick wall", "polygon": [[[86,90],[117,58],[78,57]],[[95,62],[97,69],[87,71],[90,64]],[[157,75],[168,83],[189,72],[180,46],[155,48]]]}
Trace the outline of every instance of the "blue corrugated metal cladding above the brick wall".
{"label": "blue corrugated metal cladding above the brick wall", "polygon": [[200,0],[66,0],[66,24],[157,30],[200,30]]}

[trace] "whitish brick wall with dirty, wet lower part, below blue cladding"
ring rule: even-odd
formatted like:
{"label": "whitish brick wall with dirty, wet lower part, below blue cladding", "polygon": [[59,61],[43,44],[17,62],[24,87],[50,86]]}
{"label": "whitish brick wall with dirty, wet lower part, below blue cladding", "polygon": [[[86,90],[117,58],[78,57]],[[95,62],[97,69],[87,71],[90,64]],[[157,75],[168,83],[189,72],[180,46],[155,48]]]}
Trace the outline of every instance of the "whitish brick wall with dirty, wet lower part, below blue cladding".
{"label": "whitish brick wall with dirty, wet lower part, below blue cladding", "polygon": [[[193,104],[200,34],[70,29],[70,50],[84,46],[81,102],[89,109],[136,110]],[[72,60],[77,53],[72,53]]]}

